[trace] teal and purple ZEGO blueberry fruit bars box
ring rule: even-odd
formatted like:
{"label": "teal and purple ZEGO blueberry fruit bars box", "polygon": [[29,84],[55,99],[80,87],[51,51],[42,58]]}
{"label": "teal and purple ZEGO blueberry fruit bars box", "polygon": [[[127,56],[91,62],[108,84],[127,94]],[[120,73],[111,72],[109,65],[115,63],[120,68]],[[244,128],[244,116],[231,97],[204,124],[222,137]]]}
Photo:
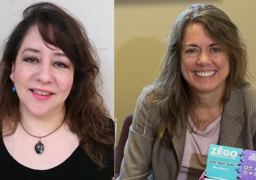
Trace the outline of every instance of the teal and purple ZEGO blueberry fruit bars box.
{"label": "teal and purple ZEGO blueberry fruit bars box", "polygon": [[256,180],[256,151],[210,144],[206,177],[215,180]]}

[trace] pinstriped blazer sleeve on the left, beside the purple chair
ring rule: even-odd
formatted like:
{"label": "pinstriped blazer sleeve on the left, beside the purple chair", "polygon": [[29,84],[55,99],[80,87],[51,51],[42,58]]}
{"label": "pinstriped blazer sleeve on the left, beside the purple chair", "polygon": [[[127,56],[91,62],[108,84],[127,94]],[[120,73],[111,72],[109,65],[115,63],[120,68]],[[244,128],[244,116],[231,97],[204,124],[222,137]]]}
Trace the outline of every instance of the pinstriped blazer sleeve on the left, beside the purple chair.
{"label": "pinstriped blazer sleeve on the left, beside the purple chair", "polygon": [[146,98],[146,90],[137,100],[133,123],[124,148],[119,180],[146,180],[151,174],[151,154],[157,135],[155,108]]}

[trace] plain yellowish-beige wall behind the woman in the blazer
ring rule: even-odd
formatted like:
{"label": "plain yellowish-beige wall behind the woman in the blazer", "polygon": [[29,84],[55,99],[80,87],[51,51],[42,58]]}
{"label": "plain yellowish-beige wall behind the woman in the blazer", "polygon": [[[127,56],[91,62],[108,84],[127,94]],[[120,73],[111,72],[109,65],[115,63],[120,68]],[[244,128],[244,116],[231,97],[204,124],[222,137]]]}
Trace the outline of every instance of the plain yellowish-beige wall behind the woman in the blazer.
{"label": "plain yellowish-beige wall behind the woman in the blazer", "polygon": [[[249,72],[256,77],[256,0],[115,0],[114,112],[117,139],[124,118],[134,112],[142,87],[157,77],[169,27],[188,6],[214,4],[239,27],[248,47]],[[256,84],[256,79],[251,79]]]}

